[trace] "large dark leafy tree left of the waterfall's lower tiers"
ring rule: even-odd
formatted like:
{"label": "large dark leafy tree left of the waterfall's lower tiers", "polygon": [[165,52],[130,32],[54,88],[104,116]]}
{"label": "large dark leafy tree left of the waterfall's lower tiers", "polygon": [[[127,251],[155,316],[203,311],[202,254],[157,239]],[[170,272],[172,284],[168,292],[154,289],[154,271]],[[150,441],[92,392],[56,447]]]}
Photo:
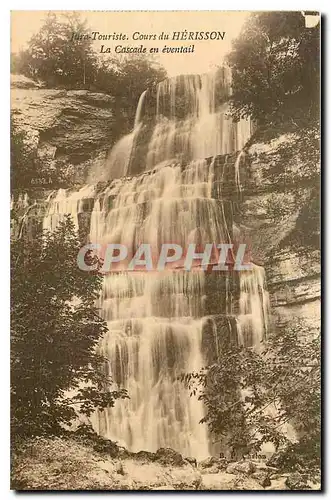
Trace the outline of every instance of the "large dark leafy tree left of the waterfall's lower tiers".
{"label": "large dark leafy tree left of the waterfall's lower tiers", "polygon": [[90,415],[127,397],[109,389],[107,360],[96,352],[107,332],[95,306],[102,278],[78,268],[79,249],[69,216],[53,233],[12,244],[14,435],[59,432],[78,411]]}

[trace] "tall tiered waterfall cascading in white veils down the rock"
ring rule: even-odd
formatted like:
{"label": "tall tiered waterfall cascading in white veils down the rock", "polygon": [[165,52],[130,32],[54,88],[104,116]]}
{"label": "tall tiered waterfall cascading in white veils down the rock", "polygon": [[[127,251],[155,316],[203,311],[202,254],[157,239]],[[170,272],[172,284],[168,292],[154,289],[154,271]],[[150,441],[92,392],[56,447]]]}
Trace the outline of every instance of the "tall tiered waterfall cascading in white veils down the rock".
{"label": "tall tiered waterfall cascading in white veils down the rock", "polygon": [[[148,243],[154,258],[163,243],[186,247],[200,240],[231,242],[231,197],[236,185],[240,187],[240,156],[230,165],[224,155],[238,155],[251,129],[249,119],[235,123],[228,116],[229,78],[223,71],[221,78],[185,75],[161,82],[152,130],[142,148],[147,137],[144,92],[133,132],[114,146],[105,165],[108,185],[98,192],[93,185],[75,193],[60,190],[48,203],[44,228],[54,229],[64,213],[70,213],[78,226],[80,212],[93,198],[92,243],[121,243],[130,255]],[[143,167],[132,175],[141,151]],[[226,190],[230,178],[233,188],[229,184]],[[215,196],[220,183],[221,197]],[[223,196],[226,191],[230,193]],[[257,266],[241,274],[238,331],[246,343],[255,345],[266,334],[264,274]],[[171,447],[199,459],[209,455],[208,432],[199,423],[203,405],[190,397],[178,377],[208,363],[203,349],[208,322],[217,348],[220,333],[216,320],[209,321],[211,315],[224,316],[224,331],[236,334],[230,321],[236,313],[230,306],[232,274],[219,273],[217,280],[223,292],[210,312],[207,275],[198,265],[191,271],[177,264],[162,272],[130,272],[123,264],[105,275],[98,305],[109,332],[99,350],[108,359],[114,383],[125,387],[130,398],[96,411],[93,426],[101,435],[132,451]]]}

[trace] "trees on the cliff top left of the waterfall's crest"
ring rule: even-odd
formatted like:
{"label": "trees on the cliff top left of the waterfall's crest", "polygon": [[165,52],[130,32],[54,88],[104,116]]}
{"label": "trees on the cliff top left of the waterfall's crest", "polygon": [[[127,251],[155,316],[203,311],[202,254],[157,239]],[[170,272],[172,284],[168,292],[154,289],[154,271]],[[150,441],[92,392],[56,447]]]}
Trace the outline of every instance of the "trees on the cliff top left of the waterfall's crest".
{"label": "trees on the cliff top left of the waterfall's crest", "polygon": [[128,123],[121,127],[125,133],[125,126],[132,127],[139,96],[163,80],[166,71],[143,54],[100,58],[91,39],[72,40],[72,33],[89,31],[77,12],[49,12],[27,49],[11,55],[11,72],[41,80],[47,87],[88,89],[116,96],[119,115],[127,116]]}

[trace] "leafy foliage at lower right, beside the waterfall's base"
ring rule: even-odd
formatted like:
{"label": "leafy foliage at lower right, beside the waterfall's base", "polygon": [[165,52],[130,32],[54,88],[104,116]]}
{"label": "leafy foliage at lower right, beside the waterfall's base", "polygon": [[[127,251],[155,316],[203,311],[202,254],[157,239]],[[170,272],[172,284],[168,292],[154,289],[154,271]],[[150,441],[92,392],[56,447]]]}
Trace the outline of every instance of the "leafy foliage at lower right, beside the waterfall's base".
{"label": "leafy foliage at lower right, beside the waterfall's base", "polygon": [[[273,336],[260,353],[224,346],[219,363],[182,376],[206,406],[202,422],[233,455],[257,452],[272,442],[293,467],[300,463],[296,454],[309,456],[310,467],[318,465],[319,339],[303,330],[299,338],[298,330],[295,325]],[[295,428],[295,443],[284,432],[288,424]]]}

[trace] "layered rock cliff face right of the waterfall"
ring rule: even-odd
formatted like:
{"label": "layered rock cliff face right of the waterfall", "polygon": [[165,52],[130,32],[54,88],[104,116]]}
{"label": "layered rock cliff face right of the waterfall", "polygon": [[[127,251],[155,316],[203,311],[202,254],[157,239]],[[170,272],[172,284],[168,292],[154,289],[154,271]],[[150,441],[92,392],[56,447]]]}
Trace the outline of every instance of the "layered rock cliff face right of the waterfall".
{"label": "layered rock cliff face right of the waterfall", "polygon": [[318,135],[255,140],[241,163],[236,222],[266,270],[273,326],[313,334],[320,321]]}

